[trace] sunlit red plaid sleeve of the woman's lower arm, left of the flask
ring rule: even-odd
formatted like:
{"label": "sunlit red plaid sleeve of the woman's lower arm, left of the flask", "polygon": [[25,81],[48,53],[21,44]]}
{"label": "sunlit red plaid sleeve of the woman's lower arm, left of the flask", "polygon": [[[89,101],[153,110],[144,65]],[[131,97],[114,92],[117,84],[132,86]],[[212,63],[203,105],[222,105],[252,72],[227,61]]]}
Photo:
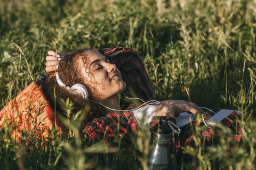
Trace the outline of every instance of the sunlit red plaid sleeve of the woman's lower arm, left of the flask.
{"label": "sunlit red plaid sleeve of the woman's lower arm, left of the flask", "polygon": [[90,143],[105,143],[110,147],[129,147],[134,143],[137,123],[131,112],[108,114],[107,117],[95,118],[84,128],[84,138]]}

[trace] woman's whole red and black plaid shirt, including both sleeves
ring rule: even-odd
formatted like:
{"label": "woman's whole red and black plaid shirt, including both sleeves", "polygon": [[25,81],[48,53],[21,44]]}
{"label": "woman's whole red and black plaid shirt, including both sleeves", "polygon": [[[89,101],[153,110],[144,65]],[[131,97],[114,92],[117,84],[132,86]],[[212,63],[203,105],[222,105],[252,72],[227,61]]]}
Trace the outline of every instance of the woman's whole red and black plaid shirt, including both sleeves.
{"label": "woman's whole red and black plaid shirt, including both sleeves", "polygon": [[[147,71],[140,56],[135,52],[135,50],[118,47],[96,49],[96,51],[108,57],[111,63],[116,64],[121,73],[129,73],[126,83],[130,82],[130,84],[135,85],[135,88],[140,90],[140,92],[137,93],[138,97],[148,100],[155,98]],[[150,131],[154,129],[156,124],[160,123],[159,118],[159,116],[155,116],[153,118]],[[175,123],[175,120],[171,117],[163,118]],[[238,143],[241,139],[241,134],[239,133],[241,128],[231,126],[231,122],[236,122],[236,119],[237,114],[233,112],[221,122],[231,129],[234,133],[232,139]],[[214,128],[206,129],[203,132],[194,134],[193,129],[195,126],[200,126],[202,123],[193,121],[191,125],[188,124],[183,126],[181,128],[182,132],[179,136],[171,136],[172,140],[170,140],[170,146],[172,146],[175,151],[179,151],[180,146],[194,147],[193,137],[204,138],[206,145],[210,145],[213,141],[212,138],[216,138],[214,136]],[[138,124],[135,121],[133,114],[131,112],[122,112],[120,114],[110,113],[106,117],[95,118],[85,126],[83,134],[85,135],[85,139],[93,143],[103,142],[110,145],[110,147],[116,147],[119,145],[129,147],[131,143],[135,141],[137,131]]]}

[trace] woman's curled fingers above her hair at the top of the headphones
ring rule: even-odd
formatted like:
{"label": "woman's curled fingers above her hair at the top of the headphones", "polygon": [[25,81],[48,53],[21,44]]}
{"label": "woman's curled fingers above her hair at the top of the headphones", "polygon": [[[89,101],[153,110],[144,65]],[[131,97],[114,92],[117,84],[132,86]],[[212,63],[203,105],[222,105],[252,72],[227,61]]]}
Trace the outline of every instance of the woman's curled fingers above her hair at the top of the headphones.
{"label": "woman's curled fingers above her hair at the top of the headphones", "polygon": [[[65,54],[63,53],[58,53],[60,56],[63,56]],[[56,52],[50,50],[48,52],[48,56],[46,56],[46,68],[45,71],[49,74],[55,73],[56,70],[58,70],[58,65],[60,64],[60,59],[56,58],[57,54]]]}

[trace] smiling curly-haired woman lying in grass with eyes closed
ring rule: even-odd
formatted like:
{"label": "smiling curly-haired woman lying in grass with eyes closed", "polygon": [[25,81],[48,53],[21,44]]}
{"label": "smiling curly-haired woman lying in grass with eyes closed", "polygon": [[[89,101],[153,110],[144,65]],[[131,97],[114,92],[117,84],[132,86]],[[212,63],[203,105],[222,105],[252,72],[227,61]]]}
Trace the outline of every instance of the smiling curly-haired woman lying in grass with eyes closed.
{"label": "smiling curly-haired woman lying in grass with eyes closed", "polygon": [[[56,61],[58,61],[56,53],[49,51],[48,54],[46,71],[54,73]],[[121,92],[125,91],[125,94],[129,92],[130,89],[125,90],[127,83],[129,86],[133,86],[139,98],[155,99],[147,71],[138,53],[133,49],[122,47],[96,50],[81,48],[62,56],[57,64],[59,64],[58,74],[50,78],[46,82],[46,88],[43,89],[51,105],[54,106],[55,98],[57,110],[63,112],[60,100],[70,98],[75,103],[74,113],[90,106],[90,111],[86,114],[83,125],[83,134],[87,141],[107,143],[110,147],[131,146],[137,139],[140,126],[145,124],[138,121],[141,121],[141,118],[136,117],[137,110],[132,112],[121,110],[119,102]],[[126,76],[127,82],[123,81],[121,72]],[[55,83],[56,78],[58,83]],[[88,90],[87,99],[81,93],[70,89],[77,83],[83,84]],[[54,87],[56,97],[54,97]],[[123,95],[121,96],[123,98]],[[196,115],[203,113],[196,105],[181,100],[161,102],[154,100],[152,103],[155,107],[151,111],[143,110],[146,112],[146,122],[151,116],[149,120],[151,122],[150,131],[160,122],[160,118],[175,124],[175,117],[178,117],[182,112]],[[238,143],[241,138],[238,131],[241,129],[239,126],[233,126],[233,123],[236,123],[236,118],[237,113],[233,112],[221,122],[230,128],[234,134],[231,137],[232,140]],[[207,128],[198,134],[193,132],[195,126],[202,124],[194,120],[180,128],[180,135],[171,136],[170,142],[177,154],[181,154],[179,149],[181,146],[195,147],[193,137],[204,139],[205,145],[212,145],[212,142],[218,141],[217,135],[214,135],[214,128]]]}

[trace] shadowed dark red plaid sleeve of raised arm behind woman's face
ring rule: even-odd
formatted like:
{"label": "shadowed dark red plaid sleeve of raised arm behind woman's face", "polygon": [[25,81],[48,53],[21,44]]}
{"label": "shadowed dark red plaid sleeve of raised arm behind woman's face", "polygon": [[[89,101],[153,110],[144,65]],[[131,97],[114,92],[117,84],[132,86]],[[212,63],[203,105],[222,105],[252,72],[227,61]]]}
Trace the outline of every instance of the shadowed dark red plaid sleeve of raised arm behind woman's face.
{"label": "shadowed dark red plaid sleeve of raised arm behind woman's face", "polygon": [[108,57],[110,63],[117,65],[117,69],[127,84],[125,94],[136,94],[144,100],[155,99],[147,70],[140,55],[134,49],[115,47],[95,49],[95,51]]}

